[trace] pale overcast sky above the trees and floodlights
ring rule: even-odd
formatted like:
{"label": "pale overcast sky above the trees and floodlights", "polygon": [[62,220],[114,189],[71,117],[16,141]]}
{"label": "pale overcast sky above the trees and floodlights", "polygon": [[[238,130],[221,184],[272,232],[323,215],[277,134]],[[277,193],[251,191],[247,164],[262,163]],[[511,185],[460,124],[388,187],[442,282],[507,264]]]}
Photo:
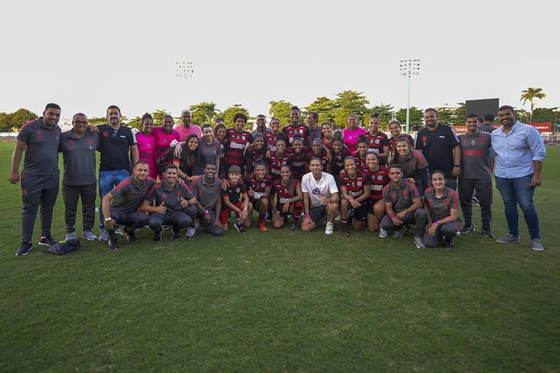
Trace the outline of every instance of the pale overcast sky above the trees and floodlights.
{"label": "pale overcast sky above the trees and floodlights", "polygon": [[[132,5],[133,4],[133,5]],[[305,107],[364,92],[407,105],[399,60],[421,60],[410,105],[456,106],[499,97],[560,106],[558,10],[552,1],[94,1],[9,2],[0,22],[0,112],[47,102],[63,118],[129,118],[202,101],[268,115],[269,101]],[[194,63],[177,78],[176,62]],[[529,109],[529,104],[522,106]]]}

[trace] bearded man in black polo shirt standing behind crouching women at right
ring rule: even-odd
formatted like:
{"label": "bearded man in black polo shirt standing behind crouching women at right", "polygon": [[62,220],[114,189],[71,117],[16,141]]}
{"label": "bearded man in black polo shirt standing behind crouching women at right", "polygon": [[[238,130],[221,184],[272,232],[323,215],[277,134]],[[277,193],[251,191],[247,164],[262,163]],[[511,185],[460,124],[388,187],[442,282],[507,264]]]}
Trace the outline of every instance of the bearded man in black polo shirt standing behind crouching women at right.
{"label": "bearded man in black polo shirt standing behind crouching women at right", "polygon": [[461,146],[459,138],[449,125],[437,122],[436,109],[424,110],[426,127],[418,131],[416,150],[428,161],[430,172],[445,172],[446,185],[457,189],[457,176],[461,172]]}

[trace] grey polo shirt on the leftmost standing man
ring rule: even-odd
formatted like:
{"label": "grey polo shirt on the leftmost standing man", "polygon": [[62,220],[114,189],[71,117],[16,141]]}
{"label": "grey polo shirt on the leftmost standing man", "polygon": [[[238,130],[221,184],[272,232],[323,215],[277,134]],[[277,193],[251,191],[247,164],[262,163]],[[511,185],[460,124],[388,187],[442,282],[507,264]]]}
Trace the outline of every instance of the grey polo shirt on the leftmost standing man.
{"label": "grey polo shirt on the leftmost standing man", "polygon": [[17,139],[27,144],[24,167],[29,175],[58,175],[58,144],[62,130],[58,125],[46,127],[43,117],[27,122],[17,134]]}

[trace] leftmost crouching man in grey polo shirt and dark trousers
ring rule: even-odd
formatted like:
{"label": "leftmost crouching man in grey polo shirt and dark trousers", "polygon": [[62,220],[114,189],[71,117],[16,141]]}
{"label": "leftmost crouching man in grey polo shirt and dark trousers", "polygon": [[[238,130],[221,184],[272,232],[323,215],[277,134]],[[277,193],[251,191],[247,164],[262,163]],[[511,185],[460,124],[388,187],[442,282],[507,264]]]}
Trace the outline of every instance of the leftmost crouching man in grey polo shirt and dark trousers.
{"label": "leftmost crouching man in grey polo shirt and dark trousers", "polygon": [[138,209],[152,186],[156,184],[156,180],[150,178],[148,174],[150,174],[148,163],[138,161],[132,169],[132,176],[121,181],[115,189],[103,197],[101,206],[103,216],[105,216],[105,227],[109,234],[110,250],[119,249],[114,229],[115,223],[124,225],[123,236],[131,242],[137,241],[134,231],[148,223],[150,218],[148,214]]}

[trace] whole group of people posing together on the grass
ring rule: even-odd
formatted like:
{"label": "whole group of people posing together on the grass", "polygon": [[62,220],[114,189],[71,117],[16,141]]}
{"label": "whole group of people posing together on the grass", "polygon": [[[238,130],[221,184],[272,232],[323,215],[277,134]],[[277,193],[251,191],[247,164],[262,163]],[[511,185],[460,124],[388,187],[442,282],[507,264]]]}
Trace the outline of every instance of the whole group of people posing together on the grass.
{"label": "whole group of people posing together on the grass", "polygon": [[[183,229],[186,237],[193,237],[197,229],[222,235],[232,213],[232,227],[244,234],[253,223],[253,211],[261,231],[268,230],[267,222],[281,229],[291,218],[292,231],[298,227],[311,231],[325,221],[325,233],[332,235],[335,220],[340,220],[344,237],[350,227],[367,227],[379,231],[380,237],[392,233],[400,238],[413,225],[417,248],[452,249],[456,235],[475,230],[473,193],[480,204],[480,231],[494,237],[492,172],[509,230],[498,243],[520,241],[519,203],[531,248],[544,249],[533,203],[534,188],[541,183],[544,143],[534,127],[515,120],[511,106],[498,110],[502,125],[496,130],[492,115],[484,118],[484,127],[477,114],[469,114],[467,132],[461,136],[437,122],[435,109],[426,109],[426,127],[418,132],[416,143],[400,133],[396,120],[389,123],[390,137],[380,132],[377,114],[371,115],[367,128],[360,127],[358,116],[352,114],[341,131],[328,122],[319,125],[314,111],[307,113],[307,124],[301,123],[296,106],[291,123],[282,129],[277,118],[267,127],[265,116],[258,115],[252,132],[245,129],[248,118],[242,113],[234,116],[234,128],[227,128],[222,118],[200,128],[190,123],[188,109],[181,113],[183,123],[175,125],[174,118],[165,115],[161,127],[144,114],[141,130],[120,123],[118,106],[109,106],[106,116],[108,124],[94,126],[85,114],[77,113],[72,129],[63,133],[58,126],[60,106],[48,104],[43,116],[21,128],[9,178],[13,184],[21,182],[22,189],[22,241],[16,255],[32,249],[39,206],[39,244],[57,242],[50,230],[59,152],[64,164],[66,240],[78,239],[75,223],[81,198],[81,238],[108,240],[111,250],[120,247],[117,233],[136,241],[134,232],[144,226],[153,230],[155,241],[162,240],[166,227],[171,227],[172,239],[180,239]],[[97,184],[99,237],[93,232]]]}

